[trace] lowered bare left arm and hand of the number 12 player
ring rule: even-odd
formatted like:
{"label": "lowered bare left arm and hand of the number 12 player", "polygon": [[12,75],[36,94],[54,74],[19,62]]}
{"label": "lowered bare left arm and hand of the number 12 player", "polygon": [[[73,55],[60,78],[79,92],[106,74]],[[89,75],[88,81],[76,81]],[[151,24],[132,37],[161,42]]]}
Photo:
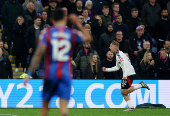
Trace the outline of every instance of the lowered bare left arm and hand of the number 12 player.
{"label": "lowered bare left arm and hand of the number 12 player", "polygon": [[[42,56],[43,54],[45,53],[45,50],[46,50],[46,46],[44,45],[38,45],[36,51],[35,51],[35,54],[33,55],[33,58],[31,60],[31,64],[30,64],[30,67],[28,69],[28,72],[32,73],[35,71],[37,65],[39,64],[39,62],[41,61],[42,59]],[[31,76],[31,75],[29,75]],[[27,81],[29,80],[29,78],[25,78],[24,80],[24,85],[26,85]]]}

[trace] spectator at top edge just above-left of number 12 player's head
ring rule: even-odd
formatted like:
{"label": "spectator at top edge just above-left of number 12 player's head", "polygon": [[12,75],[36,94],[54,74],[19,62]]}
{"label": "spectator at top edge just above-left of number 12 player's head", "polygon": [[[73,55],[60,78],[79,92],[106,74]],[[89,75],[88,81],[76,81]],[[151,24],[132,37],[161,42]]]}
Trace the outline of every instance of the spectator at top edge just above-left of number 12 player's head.
{"label": "spectator at top edge just above-left of number 12 player's head", "polygon": [[52,12],[57,8],[57,0],[49,0],[49,6],[44,7],[43,11],[46,11],[48,18],[51,17]]}

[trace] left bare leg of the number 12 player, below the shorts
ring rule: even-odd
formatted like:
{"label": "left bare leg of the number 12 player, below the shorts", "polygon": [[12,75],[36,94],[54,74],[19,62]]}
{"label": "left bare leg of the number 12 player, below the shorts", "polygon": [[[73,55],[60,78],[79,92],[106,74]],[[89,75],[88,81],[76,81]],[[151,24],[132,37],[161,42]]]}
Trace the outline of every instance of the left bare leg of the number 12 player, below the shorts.
{"label": "left bare leg of the number 12 player, below the shorts", "polygon": [[43,107],[41,109],[40,116],[48,116],[48,105],[49,105],[49,101],[43,99]]}

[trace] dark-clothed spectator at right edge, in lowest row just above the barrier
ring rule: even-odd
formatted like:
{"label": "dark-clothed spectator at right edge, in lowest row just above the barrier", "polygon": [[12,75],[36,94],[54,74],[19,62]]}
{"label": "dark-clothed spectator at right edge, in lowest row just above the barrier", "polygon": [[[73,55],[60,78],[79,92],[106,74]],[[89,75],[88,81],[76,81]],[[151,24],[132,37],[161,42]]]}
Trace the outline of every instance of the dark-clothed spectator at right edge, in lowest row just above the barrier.
{"label": "dark-clothed spectator at right edge, in lowest row just above the barrier", "polygon": [[165,49],[160,50],[160,57],[156,60],[157,79],[170,79],[170,58]]}

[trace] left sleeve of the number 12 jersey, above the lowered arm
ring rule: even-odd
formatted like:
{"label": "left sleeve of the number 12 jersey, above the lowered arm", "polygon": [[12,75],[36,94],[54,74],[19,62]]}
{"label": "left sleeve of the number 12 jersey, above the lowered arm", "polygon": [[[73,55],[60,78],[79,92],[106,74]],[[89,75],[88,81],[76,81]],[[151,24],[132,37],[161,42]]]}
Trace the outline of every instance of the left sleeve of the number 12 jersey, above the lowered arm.
{"label": "left sleeve of the number 12 jersey, above the lowered arm", "polygon": [[43,30],[39,36],[39,41],[38,43],[40,45],[44,45],[44,46],[47,46],[47,31],[46,30]]}

